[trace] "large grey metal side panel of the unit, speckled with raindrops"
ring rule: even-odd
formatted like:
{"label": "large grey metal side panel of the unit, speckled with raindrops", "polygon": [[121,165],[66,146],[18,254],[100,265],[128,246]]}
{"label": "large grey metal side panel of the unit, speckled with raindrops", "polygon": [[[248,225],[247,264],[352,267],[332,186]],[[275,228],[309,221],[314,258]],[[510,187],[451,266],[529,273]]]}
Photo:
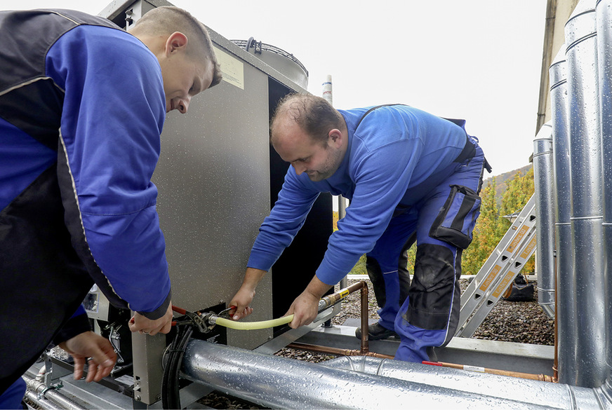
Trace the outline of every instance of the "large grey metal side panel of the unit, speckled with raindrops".
{"label": "large grey metal side panel of the unit, speckled with raindrops", "polygon": [[[194,97],[187,114],[168,115],[161,135],[157,209],[173,303],[187,310],[230,302],[270,213],[268,76],[243,67],[244,90],[222,81]],[[270,275],[253,309],[252,320],[272,317]],[[254,348],[271,334],[229,332],[228,343]]]}

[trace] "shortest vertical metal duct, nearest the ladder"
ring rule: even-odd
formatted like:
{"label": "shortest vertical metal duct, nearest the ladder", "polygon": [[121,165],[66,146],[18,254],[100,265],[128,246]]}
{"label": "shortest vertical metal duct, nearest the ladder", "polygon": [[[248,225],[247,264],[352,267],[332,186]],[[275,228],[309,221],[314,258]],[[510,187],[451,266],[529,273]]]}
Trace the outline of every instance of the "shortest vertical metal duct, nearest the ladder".
{"label": "shortest vertical metal duct, nearest the ladder", "polygon": [[552,125],[542,125],[533,140],[533,181],[535,185],[535,235],[538,273],[538,303],[548,317],[554,317],[554,186],[552,168]]}

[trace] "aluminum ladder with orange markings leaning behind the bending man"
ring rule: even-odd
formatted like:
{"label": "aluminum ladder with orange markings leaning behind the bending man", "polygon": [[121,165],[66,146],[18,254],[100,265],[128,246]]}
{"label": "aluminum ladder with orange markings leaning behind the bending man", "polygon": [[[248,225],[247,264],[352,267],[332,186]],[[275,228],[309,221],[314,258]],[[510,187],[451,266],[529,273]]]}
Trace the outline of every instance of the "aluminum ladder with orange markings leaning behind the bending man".
{"label": "aluminum ladder with orange markings leaning behind the bending man", "polygon": [[472,337],[535,252],[535,195],[461,295],[455,336]]}

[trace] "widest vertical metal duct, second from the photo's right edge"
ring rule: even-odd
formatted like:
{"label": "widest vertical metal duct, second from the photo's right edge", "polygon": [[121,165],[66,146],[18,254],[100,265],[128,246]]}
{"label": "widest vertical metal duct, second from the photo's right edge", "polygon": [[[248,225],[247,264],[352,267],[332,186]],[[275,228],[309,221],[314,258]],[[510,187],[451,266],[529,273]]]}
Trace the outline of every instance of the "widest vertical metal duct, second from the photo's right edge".
{"label": "widest vertical metal duct, second from the photo's right edge", "polygon": [[[576,322],[576,379],[597,387],[606,380],[604,246],[597,81],[595,0],[582,0],[566,23]],[[571,297],[571,295],[563,295]]]}

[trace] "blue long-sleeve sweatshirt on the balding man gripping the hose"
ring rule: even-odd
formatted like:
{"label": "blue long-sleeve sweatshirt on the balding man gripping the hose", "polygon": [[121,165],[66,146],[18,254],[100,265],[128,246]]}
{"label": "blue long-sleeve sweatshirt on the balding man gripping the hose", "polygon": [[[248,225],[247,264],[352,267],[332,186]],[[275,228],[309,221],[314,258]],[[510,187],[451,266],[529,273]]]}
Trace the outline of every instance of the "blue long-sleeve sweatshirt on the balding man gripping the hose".
{"label": "blue long-sleeve sweatshirt on the balding man gripping the hose", "polygon": [[350,200],[316,272],[319,280],[334,285],[373,249],[398,205],[413,205],[452,172],[453,160],[466,144],[463,128],[404,105],[380,107],[359,123],[368,109],[339,110],[347,124],[348,146],[331,177],[312,182],[305,172],[297,175],[289,167],[277,203],[260,227],[249,267],[269,270],[319,193],[330,192]]}

